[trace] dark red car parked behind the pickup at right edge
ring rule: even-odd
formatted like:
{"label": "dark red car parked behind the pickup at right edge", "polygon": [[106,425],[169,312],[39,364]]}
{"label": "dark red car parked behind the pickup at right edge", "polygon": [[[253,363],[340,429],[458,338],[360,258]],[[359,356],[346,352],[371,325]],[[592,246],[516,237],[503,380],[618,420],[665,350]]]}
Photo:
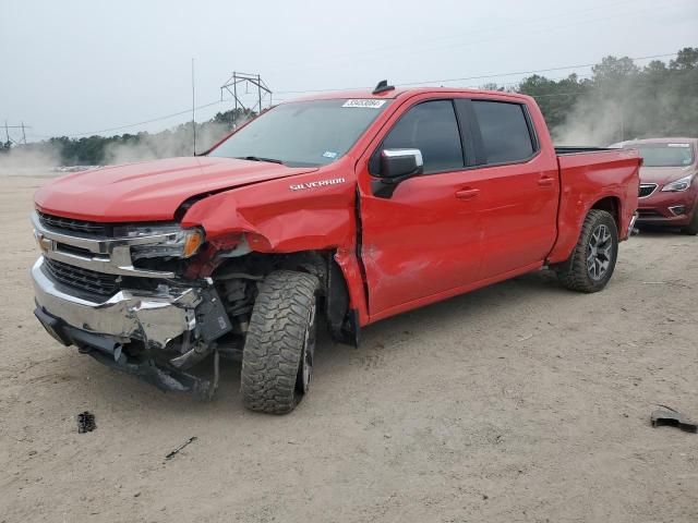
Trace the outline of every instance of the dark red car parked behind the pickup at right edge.
{"label": "dark red car parked behind the pickup at right edge", "polygon": [[647,138],[611,147],[642,157],[638,224],[679,227],[698,234],[698,138]]}

